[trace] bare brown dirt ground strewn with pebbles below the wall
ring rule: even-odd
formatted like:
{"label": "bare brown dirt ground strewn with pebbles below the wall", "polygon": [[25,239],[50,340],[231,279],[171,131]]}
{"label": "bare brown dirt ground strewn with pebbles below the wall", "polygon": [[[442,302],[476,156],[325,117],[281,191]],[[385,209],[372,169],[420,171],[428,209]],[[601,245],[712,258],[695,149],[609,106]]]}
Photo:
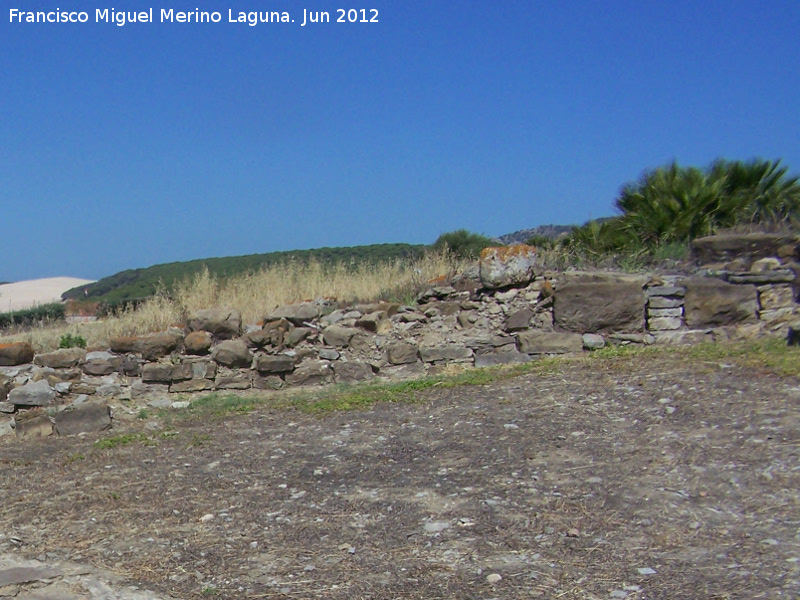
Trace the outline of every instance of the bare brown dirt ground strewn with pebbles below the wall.
{"label": "bare brown dirt ground strewn with pebbles below the wall", "polygon": [[0,552],[175,598],[800,596],[797,379],[670,354],[423,396],[4,443]]}

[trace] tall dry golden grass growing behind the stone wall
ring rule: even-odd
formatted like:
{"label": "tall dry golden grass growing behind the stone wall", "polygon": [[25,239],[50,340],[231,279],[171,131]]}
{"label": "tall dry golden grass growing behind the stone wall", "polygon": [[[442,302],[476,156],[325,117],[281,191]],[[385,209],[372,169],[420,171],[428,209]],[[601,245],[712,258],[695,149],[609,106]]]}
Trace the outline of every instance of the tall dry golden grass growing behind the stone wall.
{"label": "tall dry golden grass growing behind the stone wall", "polygon": [[245,323],[256,323],[278,306],[335,298],[340,303],[372,300],[411,300],[420,286],[431,279],[463,270],[465,263],[434,253],[415,261],[384,264],[287,263],[257,273],[218,279],[207,270],[160,293],[137,309],[91,323],[42,324],[0,337],[0,342],[29,342],[36,352],[58,348],[62,335],[86,339],[90,349],[108,347],[109,338],[163,331],[181,326],[196,310],[227,306],[242,313]]}

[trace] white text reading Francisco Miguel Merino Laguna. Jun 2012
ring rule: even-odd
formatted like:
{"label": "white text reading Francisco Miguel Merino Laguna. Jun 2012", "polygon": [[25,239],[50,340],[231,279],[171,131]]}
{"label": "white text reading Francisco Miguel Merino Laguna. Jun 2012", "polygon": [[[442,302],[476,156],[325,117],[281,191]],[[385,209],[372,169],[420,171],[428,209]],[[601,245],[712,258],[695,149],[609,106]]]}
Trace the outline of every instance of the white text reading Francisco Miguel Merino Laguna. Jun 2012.
{"label": "white text reading Francisco Miguel Merino Laguna. Jun 2012", "polygon": [[[295,18],[295,16],[297,18]],[[172,8],[147,9],[140,11],[121,11],[113,8],[97,8],[94,14],[86,11],[26,11],[9,10],[10,23],[111,23],[118,27],[144,23],[182,23],[218,24],[236,23],[256,25],[267,23],[299,23],[301,27],[325,23],[378,23],[378,10],[374,8],[337,8],[334,11],[303,9],[290,14],[287,11],[237,11],[228,9],[227,14],[219,11],[177,11]]]}

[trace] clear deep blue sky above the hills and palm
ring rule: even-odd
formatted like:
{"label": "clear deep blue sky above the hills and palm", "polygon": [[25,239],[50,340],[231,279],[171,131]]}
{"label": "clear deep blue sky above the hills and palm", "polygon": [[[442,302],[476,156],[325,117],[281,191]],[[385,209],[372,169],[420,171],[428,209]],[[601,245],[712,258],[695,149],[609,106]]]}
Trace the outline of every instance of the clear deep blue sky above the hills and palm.
{"label": "clear deep blue sky above the hills and palm", "polygon": [[[301,26],[338,7],[379,22]],[[227,22],[265,9],[295,22]],[[800,172],[797,0],[9,0],[0,17],[0,281],[583,223],[673,159]]]}

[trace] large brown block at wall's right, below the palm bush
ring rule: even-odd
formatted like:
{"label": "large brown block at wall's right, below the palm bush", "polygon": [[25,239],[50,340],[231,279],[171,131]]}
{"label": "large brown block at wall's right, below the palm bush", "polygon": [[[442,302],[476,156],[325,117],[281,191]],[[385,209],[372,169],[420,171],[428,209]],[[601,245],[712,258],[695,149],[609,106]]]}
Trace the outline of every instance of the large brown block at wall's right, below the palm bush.
{"label": "large brown block at wall's right, below the palm bush", "polygon": [[756,320],[758,298],[752,285],[707,278],[685,279],[683,285],[686,287],[684,319],[691,329]]}

